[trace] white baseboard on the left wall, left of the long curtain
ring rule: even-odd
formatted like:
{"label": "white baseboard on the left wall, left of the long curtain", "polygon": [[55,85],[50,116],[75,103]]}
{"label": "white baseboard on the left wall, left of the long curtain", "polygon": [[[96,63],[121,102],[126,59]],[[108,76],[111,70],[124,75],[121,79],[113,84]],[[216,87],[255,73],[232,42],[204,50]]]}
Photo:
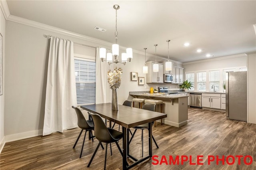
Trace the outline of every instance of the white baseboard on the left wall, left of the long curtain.
{"label": "white baseboard on the left wall, left of the long curtain", "polygon": [[29,132],[22,132],[17,134],[11,134],[5,136],[5,142],[12,142],[16,140],[26,139],[26,138],[32,138],[35,136],[41,136],[43,135],[43,129],[40,130],[33,130]]}

